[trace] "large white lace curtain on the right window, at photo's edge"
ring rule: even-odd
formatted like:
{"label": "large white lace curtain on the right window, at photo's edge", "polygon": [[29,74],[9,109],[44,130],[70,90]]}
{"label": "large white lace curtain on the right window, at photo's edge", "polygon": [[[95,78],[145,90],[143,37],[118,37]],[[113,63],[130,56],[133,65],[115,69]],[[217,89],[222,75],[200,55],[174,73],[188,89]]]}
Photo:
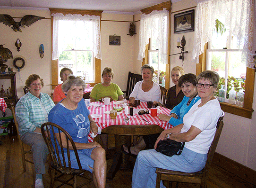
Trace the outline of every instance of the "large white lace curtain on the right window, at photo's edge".
{"label": "large white lace curtain on the right window, at photo's edge", "polygon": [[242,49],[246,66],[253,68],[256,50],[255,0],[196,0],[195,37],[193,59],[199,63],[205,43],[212,39],[215,19],[225,16],[226,26],[238,38],[237,47]]}

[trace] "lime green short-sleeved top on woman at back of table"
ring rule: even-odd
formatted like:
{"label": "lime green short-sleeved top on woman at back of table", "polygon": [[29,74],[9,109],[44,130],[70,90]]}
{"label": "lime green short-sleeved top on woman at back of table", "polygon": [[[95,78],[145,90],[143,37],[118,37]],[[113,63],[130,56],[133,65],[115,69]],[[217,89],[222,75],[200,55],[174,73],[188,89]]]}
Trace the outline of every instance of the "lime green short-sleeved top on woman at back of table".
{"label": "lime green short-sleeved top on woman at back of table", "polygon": [[117,84],[111,83],[110,86],[102,86],[101,83],[96,84],[91,91],[90,97],[95,101],[99,101],[102,97],[111,96],[113,100],[118,101],[118,97],[124,94]]}

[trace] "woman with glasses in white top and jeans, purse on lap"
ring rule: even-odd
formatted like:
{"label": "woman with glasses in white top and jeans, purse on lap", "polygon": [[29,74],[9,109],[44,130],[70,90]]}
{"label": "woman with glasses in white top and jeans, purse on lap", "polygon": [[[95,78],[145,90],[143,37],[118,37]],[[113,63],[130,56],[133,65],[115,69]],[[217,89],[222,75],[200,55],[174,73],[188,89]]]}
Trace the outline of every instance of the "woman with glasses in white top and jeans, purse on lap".
{"label": "woman with glasses in white top and jeans, purse on lap", "polygon": [[167,139],[185,142],[181,155],[168,157],[155,149],[140,151],[133,169],[132,188],[155,187],[157,167],[180,172],[198,172],[204,168],[217,121],[223,114],[220,103],[213,96],[219,78],[215,71],[199,74],[196,87],[201,99],[183,117],[182,124],[164,130],[154,145],[156,149],[160,140]]}

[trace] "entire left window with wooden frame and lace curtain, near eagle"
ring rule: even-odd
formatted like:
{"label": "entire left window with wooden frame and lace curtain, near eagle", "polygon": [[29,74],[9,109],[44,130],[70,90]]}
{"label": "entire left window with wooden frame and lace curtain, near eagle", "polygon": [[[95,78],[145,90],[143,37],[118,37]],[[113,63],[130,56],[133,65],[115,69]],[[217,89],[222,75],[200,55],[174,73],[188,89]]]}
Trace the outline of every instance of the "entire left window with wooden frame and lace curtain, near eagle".
{"label": "entire left window with wooden frame and lace curtain, near eagle", "polygon": [[60,83],[60,70],[70,68],[86,83],[101,80],[102,11],[50,9],[52,20],[52,89]]}

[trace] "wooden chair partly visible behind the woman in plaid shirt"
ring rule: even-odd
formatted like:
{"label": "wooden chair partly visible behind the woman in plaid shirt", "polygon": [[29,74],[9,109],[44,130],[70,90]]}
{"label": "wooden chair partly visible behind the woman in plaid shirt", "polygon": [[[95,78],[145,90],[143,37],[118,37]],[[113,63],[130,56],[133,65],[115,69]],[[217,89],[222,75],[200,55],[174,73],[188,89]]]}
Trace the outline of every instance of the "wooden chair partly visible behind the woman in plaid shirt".
{"label": "wooden chair partly visible behind the woman in plaid shirt", "polygon": [[[16,126],[16,129],[17,129],[17,136],[18,136],[18,140],[19,140],[19,146],[20,146],[20,149],[21,149],[21,157],[22,157],[23,171],[26,172],[26,162],[29,162],[29,163],[34,164],[33,161],[31,161],[31,160],[29,160],[29,159],[27,158],[27,154],[32,156],[33,152],[32,152],[31,149],[30,149],[30,150],[25,150],[25,149],[24,149],[23,142],[21,141],[21,138],[20,138],[20,135],[19,135],[19,127],[18,127],[16,115],[15,115],[15,106],[14,106],[13,103],[11,104],[11,113],[12,113],[13,121],[14,121],[15,126]],[[30,157],[30,158],[31,158],[31,157]]]}

